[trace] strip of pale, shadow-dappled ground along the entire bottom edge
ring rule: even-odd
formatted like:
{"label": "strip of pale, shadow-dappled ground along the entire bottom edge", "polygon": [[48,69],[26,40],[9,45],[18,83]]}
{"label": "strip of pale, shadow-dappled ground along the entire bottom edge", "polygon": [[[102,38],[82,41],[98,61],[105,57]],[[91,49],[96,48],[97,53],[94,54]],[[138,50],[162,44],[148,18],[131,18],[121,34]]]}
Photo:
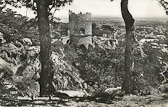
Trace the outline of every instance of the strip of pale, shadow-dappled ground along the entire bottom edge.
{"label": "strip of pale, shadow-dappled ground along the entire bottom edge", "polygon": [[[102,100],[80,100],[73,99],[59,99],[57,101],[2,101],[2,107],[6,106],[25,106],[25,107],[168,107],[168,94],[149,95],[149,96],[124,96],[108,101]],[[0,106],[0,107],[1,107]]]}

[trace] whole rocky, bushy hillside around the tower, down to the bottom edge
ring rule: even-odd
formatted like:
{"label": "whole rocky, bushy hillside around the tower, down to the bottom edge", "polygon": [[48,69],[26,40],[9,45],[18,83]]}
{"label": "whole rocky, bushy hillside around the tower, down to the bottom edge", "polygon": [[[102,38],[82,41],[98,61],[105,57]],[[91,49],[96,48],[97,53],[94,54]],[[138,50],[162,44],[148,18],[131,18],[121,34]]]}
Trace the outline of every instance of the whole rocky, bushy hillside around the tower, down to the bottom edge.
{"label": "whole rocky, bushy hillside around the tower, down to the bottom edge", "polygon": [[[86,49],[63,44],[61,38],[67,35],[67,24],[51,21],[53,96],[58,99],[49,101],[47,97],[47,101],[36,101],[31,98],[39,96],[41,71],[37,20],[28,20],[11,10],[1,12],[0,16],[2,105],[167,107],[168,36],[166,25],[162,22],[135,26],[134,72],[131,74],[134,91],[133,95],[125,96],[121,90],[124,77],[124,26],[110,26],[113,22],[102,24],[97,21],[93,30],[98,33],[109,33],[110,30],[112,37],[96,35],[98,33],[95,32],[92,38],[94,46]],[[24,103],[22,100],[11,100],[13,95],[10,89],[17,91],[17,96],[31,100]]]}

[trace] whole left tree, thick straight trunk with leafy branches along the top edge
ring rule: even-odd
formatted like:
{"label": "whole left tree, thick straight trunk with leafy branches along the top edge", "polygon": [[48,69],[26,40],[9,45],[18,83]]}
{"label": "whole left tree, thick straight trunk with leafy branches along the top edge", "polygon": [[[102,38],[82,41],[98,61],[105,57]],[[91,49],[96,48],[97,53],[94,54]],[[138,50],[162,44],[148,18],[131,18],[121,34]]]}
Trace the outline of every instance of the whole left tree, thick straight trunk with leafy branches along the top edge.
{"label": "whole left tree, thick straight trunk with leafy branches along the top edge", "polygon": [[[53,91],[52,79],[53,71],[51,70],[51,37],[49,27],[49,15],[53,8],[57,10],[72,0],[3,0],[1,3],[10,4],[20,8],[26,6],[37,12],[38,29],[40,39],[40,96],[50,95]],[[21,4],[21,6],[20,6]]]}

